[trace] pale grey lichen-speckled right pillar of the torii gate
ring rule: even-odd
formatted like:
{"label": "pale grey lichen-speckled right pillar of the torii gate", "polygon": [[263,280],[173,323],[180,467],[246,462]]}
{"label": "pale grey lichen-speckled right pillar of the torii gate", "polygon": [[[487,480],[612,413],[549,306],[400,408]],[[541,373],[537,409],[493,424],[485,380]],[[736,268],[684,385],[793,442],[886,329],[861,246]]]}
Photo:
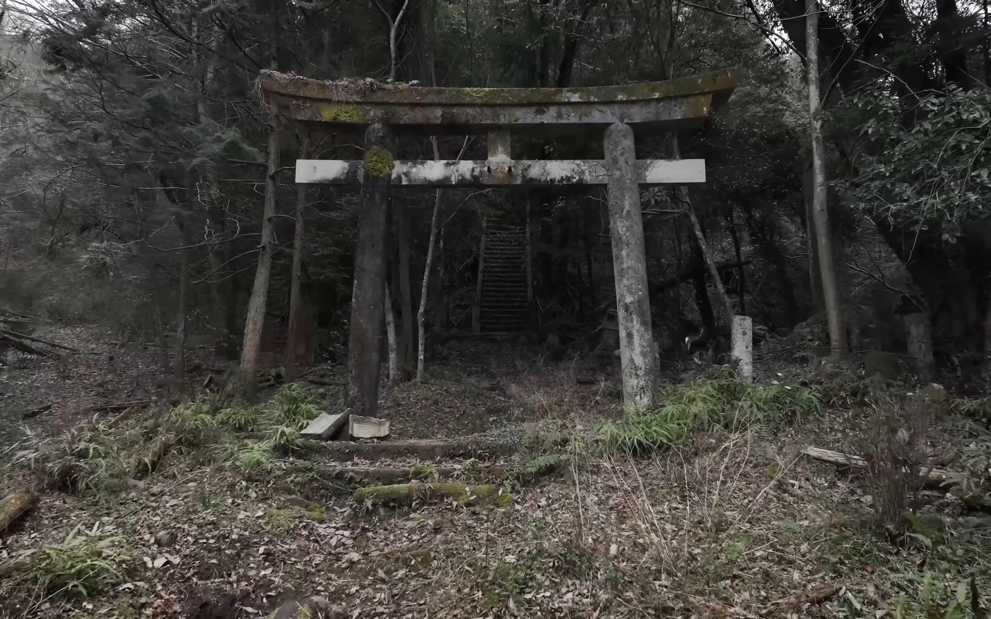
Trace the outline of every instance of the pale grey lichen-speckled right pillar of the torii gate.
{"label": "pale grey lichen-speckled right pillar of the torii gate", "polygon": [[650,325],[647,257],[643,244],[640,187],[636,182],[633,130],[620,123],[610,126],[606,129],[605,146],[623,404],[651,407],[657,365]]}

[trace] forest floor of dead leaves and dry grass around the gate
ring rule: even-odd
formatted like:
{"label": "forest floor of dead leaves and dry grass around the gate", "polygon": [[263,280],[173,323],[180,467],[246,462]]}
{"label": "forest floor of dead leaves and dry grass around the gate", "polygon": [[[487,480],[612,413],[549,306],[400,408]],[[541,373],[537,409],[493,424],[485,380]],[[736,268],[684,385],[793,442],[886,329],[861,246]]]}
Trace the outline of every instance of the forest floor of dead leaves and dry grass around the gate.
{"label": "forest floor of dead leaves and dry grass around the gate", "polygon": [[[0,495],[42,493],[0,538],[0,616],[266,617],[311,596],[352,619],[976,617],[971,592],[989,603],[991,526],[966,496],[979,485],[922,489],[909,534],[897,536],[876,525],[873,504],[890,485],[802,455],[870,437],[876,403],[833,402],[774,428],[697,433],[631,458],[596,444],[601,420],[619,417],[607,372],[462,346],[430,380],[383,402],[395,440],[492,441],[441,459],[345,463],[295,443],[263,457],[247,426],[217,451],[228,439],[197,409],[154,472],[132,475],[164,432],[149,423],[156,409],[114,428],[116,413],[70,428],[92,417],[80,400],[120,401],[132,380],[151,380],[154,351],[117,348],[114,368],[93,355],[4,370]],[[577,384],[577,374],[597,380]],[[337,401],[333,388],[307,397]],[[51,411],[22,418],[47,402]],[[35,438],[20,442],[11,426],[26,424]],[[934,459],[986,474],[981,425],[943,416],[927,441]],[[507,444],[517,449],[486,447]],[[75,476],[66,460],[82,466]],[[412,471],[420,483],[408,501],[355,499],[369,481],[354,471],[369,469]],[[425,492],[437,479],[465,494]]]}

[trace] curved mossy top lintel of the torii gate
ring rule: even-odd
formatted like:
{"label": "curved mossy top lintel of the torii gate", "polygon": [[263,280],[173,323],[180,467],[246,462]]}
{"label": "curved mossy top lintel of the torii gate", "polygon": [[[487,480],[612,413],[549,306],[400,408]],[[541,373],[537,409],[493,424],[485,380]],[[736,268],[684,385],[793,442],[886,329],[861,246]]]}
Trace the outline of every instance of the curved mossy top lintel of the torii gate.
{"label": "curved mossy top lintel of the torii gate", "polygon": [[733,71],[574,88],[432,88],[372,79],[321,81],[270,70],[259,77],[269,104],[293,120],[340,129],[383,123],[472,132],[617,122],[662,131],[692,129],[725,103],[737,82]]}

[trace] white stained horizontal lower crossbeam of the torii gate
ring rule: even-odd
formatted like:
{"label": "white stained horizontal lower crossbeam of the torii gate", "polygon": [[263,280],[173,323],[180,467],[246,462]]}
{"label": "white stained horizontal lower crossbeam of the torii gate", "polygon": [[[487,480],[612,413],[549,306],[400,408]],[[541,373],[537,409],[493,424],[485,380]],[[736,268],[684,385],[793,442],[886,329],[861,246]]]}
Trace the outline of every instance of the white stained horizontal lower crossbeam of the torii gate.
{"label": "white stained horizontal lower crossbeam of the torii gate", "polygon": [[[706,182],[706,159],[638,159],[640,184],[682,185]],[[297,159],[297,183],[357,184],[360,160]],[[392,184],[433,187],[480,185],[603,185],[606,161],[601,159],[397,160]]]}

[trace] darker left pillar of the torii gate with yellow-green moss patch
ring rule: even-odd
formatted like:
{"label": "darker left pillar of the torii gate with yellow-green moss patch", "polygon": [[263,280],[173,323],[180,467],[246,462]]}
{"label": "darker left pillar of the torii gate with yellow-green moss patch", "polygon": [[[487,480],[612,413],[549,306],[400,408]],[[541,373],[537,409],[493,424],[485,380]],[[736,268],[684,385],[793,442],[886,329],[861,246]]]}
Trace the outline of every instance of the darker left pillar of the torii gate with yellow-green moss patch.
{"label": "darker left pillar of the torii gate with yellow-green moss patch", "polygon": [[365,134],[365,172],[348,344],[348,401],[352,414],[375,417],[379,408],[379,340],[383,335],[385,228],[392,192],[392,136],[383,125]]}

